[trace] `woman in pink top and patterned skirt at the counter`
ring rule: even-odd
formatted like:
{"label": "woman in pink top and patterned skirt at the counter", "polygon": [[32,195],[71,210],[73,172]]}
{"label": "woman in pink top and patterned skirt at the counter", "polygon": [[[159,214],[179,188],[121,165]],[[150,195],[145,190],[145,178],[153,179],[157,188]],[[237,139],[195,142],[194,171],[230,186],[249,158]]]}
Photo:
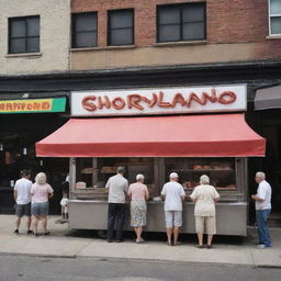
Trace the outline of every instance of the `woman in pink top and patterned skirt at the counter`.
{"label": "woman in pink top and patterned skirt at the counter", "polygon": [[136,182],[130,184],[127,195],[131,198],[131,225],[136,233],[136,243],[143,243],[143,226],[146,225],[146,200],[149,198],[148,189],[144,184],[145,177],[136,176]]}

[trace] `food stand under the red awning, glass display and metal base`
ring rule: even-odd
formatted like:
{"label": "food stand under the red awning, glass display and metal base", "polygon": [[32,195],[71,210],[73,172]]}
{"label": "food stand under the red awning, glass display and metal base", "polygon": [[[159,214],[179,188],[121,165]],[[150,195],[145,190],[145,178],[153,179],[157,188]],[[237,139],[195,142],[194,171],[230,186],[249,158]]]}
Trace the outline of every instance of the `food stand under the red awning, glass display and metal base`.
{"label": "food stand under the red awning, glass display and metal base", "polygon": [[[69,227],[106,229],[108,179],[116,168],[124,166],[125,178],[135,182],[135,176],[143,173],[150,193],[147,207],[147,232],[165,232],[164,202],[157,202],[162,184],[171,171],[179,173],[187,199],[199,178],[207,175],[211,184],[217,189],[221,201],[216,203],[217,234],[246,235],[247,225],[247,159],[229,158],[70,158]],[[128,210],[128,209],[127,209]],[[182,233],[194,233],[194,203],[183,203]],[[128,213],[128,212],[127,212]],[[97,215],[98,214],[98,215]],[[233,223],[235,222],[235,224]],[[130,214],[125,229],[130,226]]]}

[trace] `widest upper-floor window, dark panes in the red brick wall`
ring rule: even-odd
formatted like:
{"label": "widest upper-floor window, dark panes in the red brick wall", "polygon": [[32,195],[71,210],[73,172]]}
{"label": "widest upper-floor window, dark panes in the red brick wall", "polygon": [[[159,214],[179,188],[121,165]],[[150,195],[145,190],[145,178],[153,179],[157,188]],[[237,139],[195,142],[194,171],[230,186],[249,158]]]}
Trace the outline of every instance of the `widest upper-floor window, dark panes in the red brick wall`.
{"label": "widest upper-floor window, dark panes in the red brick wall", "polygon": [[205,3],[159,5],[157,42],[205,40]]}

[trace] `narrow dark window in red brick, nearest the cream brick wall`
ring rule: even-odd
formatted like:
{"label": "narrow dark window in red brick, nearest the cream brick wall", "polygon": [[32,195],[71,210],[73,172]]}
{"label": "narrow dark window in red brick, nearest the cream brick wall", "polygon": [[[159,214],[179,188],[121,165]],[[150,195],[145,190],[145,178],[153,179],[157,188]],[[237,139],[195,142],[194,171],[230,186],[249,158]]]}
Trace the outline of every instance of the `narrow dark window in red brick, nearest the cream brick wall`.
{"label": "narrow dark window in red brick, nearest the cream brick wall", "polygon": [[72,14],[72,47],[98,46],[97,12]]}

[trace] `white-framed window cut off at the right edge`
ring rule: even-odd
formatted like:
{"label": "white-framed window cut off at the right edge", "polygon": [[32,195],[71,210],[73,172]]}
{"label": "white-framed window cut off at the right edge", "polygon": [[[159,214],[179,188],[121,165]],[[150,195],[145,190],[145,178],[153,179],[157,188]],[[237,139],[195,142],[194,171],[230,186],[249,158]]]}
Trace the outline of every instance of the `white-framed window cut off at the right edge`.
{"label": "white-framed window cut off at the right edge", "polygon": [[281,35],[281,0],[269,0],[269,34]]}

